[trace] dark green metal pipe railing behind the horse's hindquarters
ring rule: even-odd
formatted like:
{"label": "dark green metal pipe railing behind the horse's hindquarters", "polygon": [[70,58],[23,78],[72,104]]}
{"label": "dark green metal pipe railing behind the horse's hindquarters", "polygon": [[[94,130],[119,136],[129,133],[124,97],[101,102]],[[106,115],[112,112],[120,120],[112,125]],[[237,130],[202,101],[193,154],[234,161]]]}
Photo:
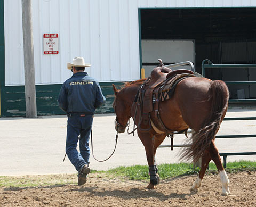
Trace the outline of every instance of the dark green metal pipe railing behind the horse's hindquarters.
{"label": "dark green metal pipe railing behind the horse's hindquarters", "polygon": [[[206,64],[207,63],[207,64]],[[256,64],[213,64],[210,60],[206,59],[202,62],[202,76],[205,76],[205,68],[256,68]],[[226,82],[227,85],[256,85],[256,81],[231,81]],[[256,103],[256,99],[233,99],[228,100],[229,103]],[[224,120],[256,120],[256,117],[234,117],[224,118]],[[256,135],[220,135],[216,138],[248,138],[256,137]],[[256,155],[256,152],[230,152],[220,153],[223,156],[224,168],[227,166],[227,156],[231,155]]]}

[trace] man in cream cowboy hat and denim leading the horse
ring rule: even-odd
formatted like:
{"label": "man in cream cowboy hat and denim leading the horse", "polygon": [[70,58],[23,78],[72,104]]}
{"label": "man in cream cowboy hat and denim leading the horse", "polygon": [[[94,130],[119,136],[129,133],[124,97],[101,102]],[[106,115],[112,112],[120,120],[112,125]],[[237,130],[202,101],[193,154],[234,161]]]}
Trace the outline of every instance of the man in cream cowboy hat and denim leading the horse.
{"label": "man in cream cowboy hat and denim leading the horse", "polygon": [[84,72],[90,66],[83,57],[74,57],[72,63],[67,63],[73,76],[63,83],[58,97],[60,108],[68,115],[66,153],[78,171],[78,185],[85,184],[90,173],[89,138],[94,111],[106,101],[97,80]]}

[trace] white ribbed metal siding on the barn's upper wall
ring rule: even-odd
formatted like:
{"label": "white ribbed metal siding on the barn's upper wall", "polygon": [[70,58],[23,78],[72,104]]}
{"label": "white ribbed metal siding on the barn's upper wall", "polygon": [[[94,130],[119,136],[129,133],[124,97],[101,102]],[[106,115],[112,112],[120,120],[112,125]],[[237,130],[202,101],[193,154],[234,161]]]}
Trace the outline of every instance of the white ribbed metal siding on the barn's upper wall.
{"label": "white ribbed metal siding on the barn's upper wall", "polygon": [[[101,82],[139,79],[138,8],[242,7],[256,1],[33,0],[32,6],[36,84],[58,84],[71,76],[66,64],[74,56],[91,63],[86,71]],[[4,22],[5,85],[23,85],[20,0],[4,0]],[[58,55],[43,54],[44,33],[59,34]]]}

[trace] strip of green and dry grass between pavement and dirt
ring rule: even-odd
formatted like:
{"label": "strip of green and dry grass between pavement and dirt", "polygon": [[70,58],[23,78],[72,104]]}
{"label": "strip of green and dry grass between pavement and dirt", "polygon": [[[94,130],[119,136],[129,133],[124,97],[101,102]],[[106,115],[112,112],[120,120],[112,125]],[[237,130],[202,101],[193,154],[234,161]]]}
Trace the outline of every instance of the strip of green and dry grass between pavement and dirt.
{"label": "strip of green and dry grass between pavement and dirt", "polygon": [[[199,168],[193,168],[193,164],[178,163],[178,164],[159,164],[158,174],[161,179],[167,179],[182,175],[192,175],[199,172]],[[207,174],[217,173],[217,168],[214,163],[209,164]],[[226,171],[228,173],[240,171],[256,171],[256,162],[252,161],[236,161],[228,162]],[[147,165],[134,165],[131,167],[118,167],[107,171],[95,171],[90,173],[92,177],[106,179],[130,179],[130,180],[149,180]],[[61,175],[34,175],[34,176],[0,176],[0,187],[13,188],[28,188],[38,186],[54,186],[61,187],[63,185],[77,185],[77,175],[61,174]]]}

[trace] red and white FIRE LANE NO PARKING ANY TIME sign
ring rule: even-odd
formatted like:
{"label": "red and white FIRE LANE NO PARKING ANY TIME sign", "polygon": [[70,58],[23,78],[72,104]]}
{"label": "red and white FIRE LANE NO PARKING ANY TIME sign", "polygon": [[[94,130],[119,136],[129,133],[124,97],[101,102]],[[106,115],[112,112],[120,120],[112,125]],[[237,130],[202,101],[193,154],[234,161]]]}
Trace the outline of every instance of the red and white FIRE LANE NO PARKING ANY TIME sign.
{"label": "red and white FIRE LANE NO PARKING ANY TIME sign", "polygon": [[59,54],[58,34],[44,34],[44,54]]}

